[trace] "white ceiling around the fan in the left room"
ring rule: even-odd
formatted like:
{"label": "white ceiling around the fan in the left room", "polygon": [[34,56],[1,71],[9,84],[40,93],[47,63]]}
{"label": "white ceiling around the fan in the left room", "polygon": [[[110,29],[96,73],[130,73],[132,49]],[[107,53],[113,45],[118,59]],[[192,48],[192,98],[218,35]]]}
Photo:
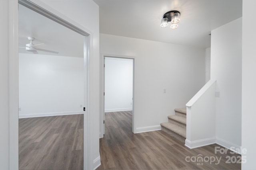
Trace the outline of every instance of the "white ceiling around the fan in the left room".
{"label": "white ceiling around the fan in the left room", "polygon": [[[36,48],[57,51],[58,54],[38,51],[42,55],[84,57],[84,37],[71,29],[56,23],[22,5],[19,5],[19,46],[30,43],[28,37],[34,37],[33,44],[44,43]],[[19,48],[19,53],[32,53]]]}

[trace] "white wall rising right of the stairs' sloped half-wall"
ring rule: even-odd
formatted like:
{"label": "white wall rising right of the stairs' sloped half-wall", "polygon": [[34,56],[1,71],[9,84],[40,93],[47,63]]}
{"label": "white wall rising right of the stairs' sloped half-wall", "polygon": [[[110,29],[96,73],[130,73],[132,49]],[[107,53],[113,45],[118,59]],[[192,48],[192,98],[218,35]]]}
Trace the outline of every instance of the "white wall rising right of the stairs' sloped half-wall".
{"label": "white wall rising right of the stairs' sloped half-wall", "polygon": [[216,142],[241,146],[242,18],[211,33],[211,79],[216,80]]}

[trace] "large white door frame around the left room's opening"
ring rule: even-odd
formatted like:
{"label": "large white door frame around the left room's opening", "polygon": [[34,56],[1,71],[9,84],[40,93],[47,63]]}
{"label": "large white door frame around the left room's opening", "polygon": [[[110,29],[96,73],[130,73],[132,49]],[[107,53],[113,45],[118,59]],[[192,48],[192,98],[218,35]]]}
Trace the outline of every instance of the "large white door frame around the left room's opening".
{"label": "large white door frame around the left room's opening", "polygon": [[92,51],[92,32],[66,16],[58,13],[38,0],[10,0],[9,1],[9,125],[10,125],[10,150],[9,168],[19,169],[19,139],[18,139],[18,4],[46,16],[47,18],[68,27],[69,29],[84,36],[84,169],[93,169],[93,160],[90,152],[90,58]]}

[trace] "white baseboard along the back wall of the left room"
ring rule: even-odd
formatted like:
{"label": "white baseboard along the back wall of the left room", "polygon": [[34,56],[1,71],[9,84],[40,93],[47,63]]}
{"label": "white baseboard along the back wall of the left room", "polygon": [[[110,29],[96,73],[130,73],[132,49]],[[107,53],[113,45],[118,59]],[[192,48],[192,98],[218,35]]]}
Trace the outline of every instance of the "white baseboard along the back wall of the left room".
{"label": "white baseboard along the back wall of the left room", "polygon": [[83,111],[64,111],[64,112],[53,112],[53,113],[22,114],[22,115],[19,115],[19,119],[29,118],[29,117],[46,117],[46,116],[77,115],[77,114],[84,114],[84,112]]}

